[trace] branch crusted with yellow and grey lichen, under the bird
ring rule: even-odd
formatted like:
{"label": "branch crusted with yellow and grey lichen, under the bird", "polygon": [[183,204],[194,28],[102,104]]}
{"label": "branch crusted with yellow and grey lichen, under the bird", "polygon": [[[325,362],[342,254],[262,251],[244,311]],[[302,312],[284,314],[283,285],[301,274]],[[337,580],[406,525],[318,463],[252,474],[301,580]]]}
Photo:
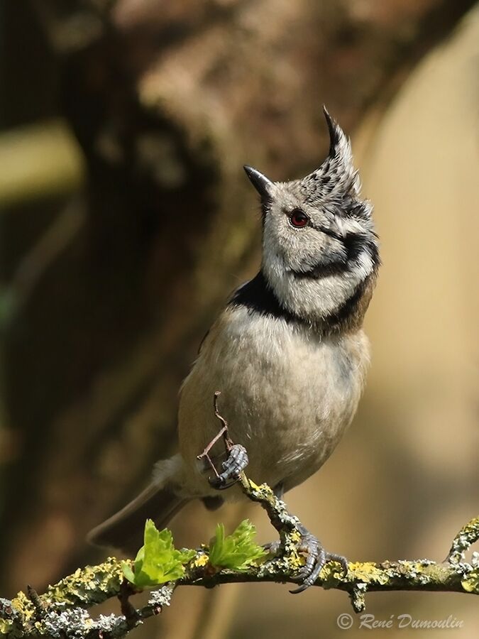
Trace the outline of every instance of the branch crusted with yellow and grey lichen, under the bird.
{"label": "branch crusted with yellow and grey lichen, under the bird", "polygon": [[[115,639],[126,635],[143,621],[170,605],[177,586],[216,586],[235,582],[280,581],[294,584],[304,562],[299,551],[299,520],[291,515],[284,502],[277,499],[266,484],[257,486],[243,474],[241,486],[248,498],[260,503],[280,535],[280,552],[258,567],[235,571],[211,566],[207,549],[199,551],[187,565],[185,575],[150,593],[148,603],[135,608],[130,598],[135,591],[123,577],[123,564],[109,558],[103,564],[78,569],[44,594],[29,586],[12,601],[0,599],[0,633],[11,639],[47,635],[50,637]],[[479,517],[461,528],[453,540],[446,561],[430,559],[395,562],[348,562],[348,573],[340,564],[329,562],[321,571],[316,586],[346,591],[356,612],[365,607],[368,591],[449,591],[479,594],[479,554],[466,562],[464,553],[479,539]],[[87,608],[106,599],[118,597],[121,613],[97,618]]]}

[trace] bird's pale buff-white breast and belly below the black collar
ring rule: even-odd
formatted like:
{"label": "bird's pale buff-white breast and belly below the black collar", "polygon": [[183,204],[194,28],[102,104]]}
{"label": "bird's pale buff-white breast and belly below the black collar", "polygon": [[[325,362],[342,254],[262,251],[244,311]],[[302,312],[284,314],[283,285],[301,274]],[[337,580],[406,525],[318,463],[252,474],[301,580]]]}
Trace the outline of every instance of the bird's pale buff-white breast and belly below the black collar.
{"label": "bird's pale buff-white breast and belly below the black collar", "polygon": [[[248,475],[290,488],[329,457],[356,412],[368,363],[363,332],[321,339],[285,320],[229,308],[182,386],[180,449],[187,464],[218,432],[213,395]],[[220,446],[221,448],[221,446]],[[216,449],[218,450],[218,449]]]}

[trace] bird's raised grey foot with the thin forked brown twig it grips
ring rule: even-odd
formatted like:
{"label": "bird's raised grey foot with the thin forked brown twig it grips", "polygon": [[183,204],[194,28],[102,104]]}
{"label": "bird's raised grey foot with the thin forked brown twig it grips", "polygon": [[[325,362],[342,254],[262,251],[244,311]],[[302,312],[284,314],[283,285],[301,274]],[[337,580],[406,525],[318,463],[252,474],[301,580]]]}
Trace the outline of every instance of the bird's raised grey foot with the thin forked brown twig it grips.
{"label": "bird's raised grey foot with the thin forked brown twig it grips", "polygon": [[[224,490],[225,488],[230,488],[233,484],[236,484],[238,479],[240,478],[243,470],[248,466],[248,453],[246,452],[246,448],[241,446],[241,444],[233,444],[231,438],[229,437],[228,432],[228,422],[222,417],[218,410],[218,398],[221,395],[220,391],[216,391],[214,393],[214,414],[220,420],[223,425],[219,430],[218,434],[215,435],[211,442],[207,445],[201,455],[198,455],[198,459],[205,459],[209,467],[214,472],[213,477],[209,477],[208,481],[210,486],[216,488],[219,491]],[[213,460],[211,459],[209,452],[211,448],[216,444],[216,442],[223,438],[224,447],[226,449],[226,459],[221,463],[221,468],[223,472],[219,473],[216,470],[216,466],[214,465]]]}

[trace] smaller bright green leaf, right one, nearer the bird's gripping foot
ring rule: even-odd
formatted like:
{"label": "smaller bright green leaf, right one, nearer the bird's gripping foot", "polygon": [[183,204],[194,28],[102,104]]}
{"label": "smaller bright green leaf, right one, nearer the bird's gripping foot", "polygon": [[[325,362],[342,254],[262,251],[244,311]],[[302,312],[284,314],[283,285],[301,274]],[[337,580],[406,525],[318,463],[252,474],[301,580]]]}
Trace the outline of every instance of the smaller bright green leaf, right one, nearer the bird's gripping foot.
{"label": "smaller bright green leaf, right one, nearer the bird's gripping foot", "polygon": [[216,537],[209,544],[209,563],[215,568],[229,568],[231,570],[247,570],[250,566],[260,563],[268,553],[253,540],[256,529],[245,519],[238,528],[225,537],[224,525],[216,526]]}

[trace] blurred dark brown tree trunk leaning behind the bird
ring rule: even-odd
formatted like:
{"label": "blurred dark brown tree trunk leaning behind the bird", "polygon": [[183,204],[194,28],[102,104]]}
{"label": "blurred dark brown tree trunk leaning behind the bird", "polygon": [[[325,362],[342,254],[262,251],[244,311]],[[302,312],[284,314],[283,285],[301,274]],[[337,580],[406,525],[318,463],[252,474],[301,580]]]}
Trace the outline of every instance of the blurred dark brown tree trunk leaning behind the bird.
{"label": "blurred dark brown tree trunk leaning behind the bird", "polygon": [[[85,532],[175,448],[177,389],[199,339],[258,266],[243,163],[275,180],[314,168],[321,104],[351,133],[472,4],[33,4],[87,183],[82,224],[4,329],[16,447],[2,594],[91,558]],[[22,229],[12,219],[7,230]],[[185,518],[196,541],[198,512]]]}

